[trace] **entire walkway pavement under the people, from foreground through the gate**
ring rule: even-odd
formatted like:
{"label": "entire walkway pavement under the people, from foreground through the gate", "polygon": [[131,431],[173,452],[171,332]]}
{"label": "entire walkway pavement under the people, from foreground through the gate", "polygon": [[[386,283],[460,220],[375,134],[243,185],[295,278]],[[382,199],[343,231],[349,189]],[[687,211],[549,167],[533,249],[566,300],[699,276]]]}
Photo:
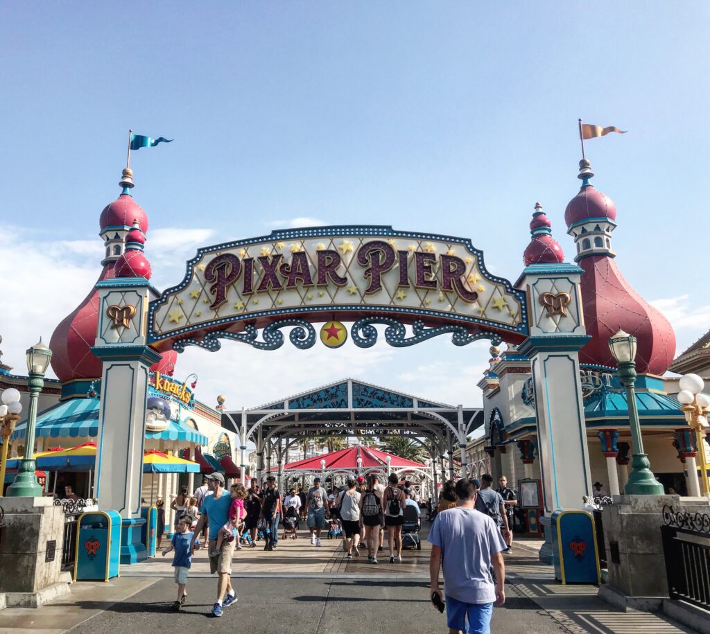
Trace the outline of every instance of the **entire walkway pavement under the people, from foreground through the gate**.
{"label": "entire walkway pavement under the people, from foreground through the gate", "polygon": [[[429,547],[407,550],[403,563],[347,560],[340,540],[312,547],[306,533],[278,549],[244,549],[234,557],[239,602],[222,619],[208,618],[215,579],[204,553],[195,557],[180,613],[170,606],[176,586],[168,557],[123,567],[121,577],[79,583],[72,594],[39,610],[0,611],[0,633],[30,631],[112,634],[238,630],[249,634],[376,634],[447,631],[428,596]],[[537,561],[539,541],[518,541],[506,555],[506,605],[496,608],[493,633],[680,634],[692,630],[660,616],[621,613],[596,597],[595,586],[562,586]],[[363,561],[364,560],[364,561]],[[266,613],[270,616],[266,618]]]}

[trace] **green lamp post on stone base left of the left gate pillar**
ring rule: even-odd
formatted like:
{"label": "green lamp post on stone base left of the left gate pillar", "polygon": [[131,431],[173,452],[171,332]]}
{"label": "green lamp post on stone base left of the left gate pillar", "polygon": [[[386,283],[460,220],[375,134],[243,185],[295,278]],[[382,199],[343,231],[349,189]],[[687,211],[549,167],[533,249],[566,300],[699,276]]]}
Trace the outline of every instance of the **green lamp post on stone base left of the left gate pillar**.
{"label": "green lamp post on stone base left of the left gate pillar", "polygon": [[42,487],[35,476],[35,423],[37,423],[37,401],[44,387],[44,375],[49,367],[52,351],[39,340],[27,351],[27,369],[30,374],[30,408],[27,414],[25,433],[25,456],[20,463],[15,482],[7,489],[8,497],[38,497]]}

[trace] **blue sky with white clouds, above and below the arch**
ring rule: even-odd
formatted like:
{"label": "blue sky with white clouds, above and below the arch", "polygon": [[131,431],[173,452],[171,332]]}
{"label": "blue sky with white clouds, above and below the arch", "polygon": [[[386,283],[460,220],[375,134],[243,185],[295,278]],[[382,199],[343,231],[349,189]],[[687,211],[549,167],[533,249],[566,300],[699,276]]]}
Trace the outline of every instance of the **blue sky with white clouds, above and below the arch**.
{"label": "blue sky with white clouds, above and below the arch", "polygon": [[[158,289],[198,247],[316,224],[471,238],[517,279],[536,201],[572,260],[577,119],[618,210],[617,262],[678,352],[710,328],[710,5],[451,1],[0,4],[3,361],[91,289],[129,128]],[[478,406],[488,342],[190,348],[197,396],[256,406],[342,377]],[[275,368],[275,373],[274,373]]]}

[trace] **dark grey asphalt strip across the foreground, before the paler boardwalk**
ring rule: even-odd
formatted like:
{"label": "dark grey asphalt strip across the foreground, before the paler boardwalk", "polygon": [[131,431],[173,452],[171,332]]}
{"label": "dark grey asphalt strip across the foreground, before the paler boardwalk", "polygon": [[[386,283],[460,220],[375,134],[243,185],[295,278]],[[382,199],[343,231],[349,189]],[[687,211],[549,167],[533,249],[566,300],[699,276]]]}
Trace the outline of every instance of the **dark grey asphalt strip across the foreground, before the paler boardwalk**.
{"label": "dark grey asphalt strip across the foreground, before the paler boardwalk", "polygon": [[[215,578],[190,579],[189,600],[172,608],[177,586],[160,579],[126,601],[84,621],[71,633],[226,632],[249,634],[376,634],[447,632],[445,615],[432,606],[425,581],[391,579],[235,579],[239,601],[210,611]],[[493,613],[493,633],[559,634],[568,630],[531,599],[506,586],[508,598]],[[84,599],[77,607],[91,610]]]}

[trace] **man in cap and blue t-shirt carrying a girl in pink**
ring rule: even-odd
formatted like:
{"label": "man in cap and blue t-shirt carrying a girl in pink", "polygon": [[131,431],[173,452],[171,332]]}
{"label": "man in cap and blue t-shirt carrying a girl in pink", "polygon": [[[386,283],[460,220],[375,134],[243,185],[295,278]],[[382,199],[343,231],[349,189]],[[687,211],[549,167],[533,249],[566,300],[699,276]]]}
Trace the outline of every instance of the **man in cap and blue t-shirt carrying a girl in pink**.
{"label": "man in cap and blue t-shirt carrying a girl in pink", "polygon": [[[222,608],[236,603],[236,593],[231,586],[231,558],[234,555],[236,539],[224,540],[222,550],[219,555],[212,557],[212,552],[217,545],[217,535],[222,527],[229,521],[229,507],[231,497],[224,491],[224,476],[219,472],[214,472],[207,476],[207,486],[212,495],[207,495],[202,500],[200,507],[200,520],[197,521],[195,532],[192,533],[192,550],[195,549],[195,541],[200,535],[200,530],[205,519],[209,523],[209,545],[207,555],[209,556],[209,572],[217,572],[217,601],[212,608],[212,616],[222,616]],[[236,537],[236,535],[235,535]]]}

